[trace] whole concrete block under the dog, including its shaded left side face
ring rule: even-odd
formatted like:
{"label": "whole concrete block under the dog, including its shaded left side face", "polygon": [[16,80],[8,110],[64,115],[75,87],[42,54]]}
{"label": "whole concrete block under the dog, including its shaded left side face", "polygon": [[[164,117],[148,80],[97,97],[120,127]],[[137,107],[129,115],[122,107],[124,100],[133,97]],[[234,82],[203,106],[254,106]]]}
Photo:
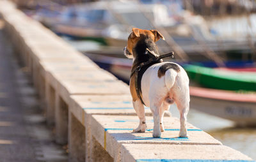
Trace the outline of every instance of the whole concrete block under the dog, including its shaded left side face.
{"label": "whole concrete block under the dog, including its shaded left side face", "polygon": [[92,115],[90,134],[115,160],[120,158],[121,144],[221,145],[221,142],[211,135],[189,123],[187,127],[189,137],[179,138],[179,119],[174,117],[164,117],[165,131],[161,138],[153,138],[152,119],[147,117],[145,133],[132,133],[139,123],[137,116]]}

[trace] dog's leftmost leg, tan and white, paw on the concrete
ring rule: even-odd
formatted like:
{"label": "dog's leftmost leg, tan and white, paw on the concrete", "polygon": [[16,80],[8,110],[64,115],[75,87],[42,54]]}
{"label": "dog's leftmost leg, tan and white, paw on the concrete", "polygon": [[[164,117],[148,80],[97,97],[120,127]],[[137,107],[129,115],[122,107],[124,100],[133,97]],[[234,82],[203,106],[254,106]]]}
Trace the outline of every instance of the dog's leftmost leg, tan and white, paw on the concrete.
{"label": "dog's leftmost leg, tan and white, paw on the concrete", "polygon": [[143,103],[141,103],[140,100],[136,100],[136,101],[133,101],[132,104],[136,111],[136,114],[140,119],[140,124],[138,128],[133,129],[133,132],[144,133],[147,129],[147,124],[146,124],[146,118],[145,118],[145,108],[143,106]]}

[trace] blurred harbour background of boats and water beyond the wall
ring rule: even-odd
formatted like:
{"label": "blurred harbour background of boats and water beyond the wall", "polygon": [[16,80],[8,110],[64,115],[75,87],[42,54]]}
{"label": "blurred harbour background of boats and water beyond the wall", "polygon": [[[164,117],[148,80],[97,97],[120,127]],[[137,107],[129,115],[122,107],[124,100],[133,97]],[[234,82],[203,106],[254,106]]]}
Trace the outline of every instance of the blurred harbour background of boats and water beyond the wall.
{"label": "blurred harbour background of boats and water beyond the wall", "polygon": [[[113,5],[110,1],[102,2],[102,4],[87,4],[88,1],[44,2],[45,4],[38,1],[34,1],[34,3],[17,1],[20,3],[20,8],[23,8],[24,13],[29,17],[42,22],[77,50],[99,64],[101,68],[110,71],[124,82],[129,80],[131,60],[124,58],[122,49],[132,27],[157,28],[161,29],[161,33],[163,32],[162,34],[166,38],[166,42],[159,41],[158,43],[161,47],[161,54],[174,51],[174,61],[182,66],[200,64],[200,67],[203,66],[204,69],[198,69],[199,72],[213,71],[207,73],[207,75],[213,76],[207,82],[204,82],[206,79],[203,77],[202,80],[196,80],[192,74],[189,76],[191,80],[195,79],[193,82],[199,82],[196,84],[199,84],[198,87],[222,89],[225,92],[232,91],[233,96],[239,92],[244,95],[255,95],[255,1],[140,1],[139,4],[138,1],[132,1],[129,4],[132,7],[127,4],[119,4],[120,1],[118,4],[111,1]],[[152,20],[141,11],[145,9],[143,5],[148,4],[152,6],[147,6],[146,8],[150,8],[150,10],[145,12],[150,15],[150,18],[155,15]],[[157,6],[157,9],[154,6],[156,4],[163,4],[165,7]],[[134,10],[134,6],[140,7],[138,10]],[[163,8],[167,9],[166,13],[163,13]],[[125,10],[129,11],[125,12]],[[104,15],[104,13],[110,14]],[[113,15],[113,17],[109,18],[109,15]],[[193,63],[191,63],[192,61]],[[188,73],[193,72],[188,69]],[[224,75],[221,75],[222,73]],[[199,75],[203,76],[202,73],[196,76]],[[246,76],[244,77],[244,75]],[[252,81],[254,87],[248,85],[244,89],[243,87],[235,89],[237,86],[225,89],[227,86],[224,84],[215,85],[218,80],[214,81],[213,78],[220,77],[223,80],[226,79],[224,83],[227,85],[231,85],[234,80],[237,81],[237,78],[241,78],[239,83],[248,83],[248,80],[254,79]],[[251,97],[244,95],[244,98]],[[205,98],[201,96],[201,99]],[[227,102],[233,106],[236,105],[232,99],[227,99]],[[202,112],[193,105],[189,111],[188,122],[214,136],[224,145],[256,159],[256,103],[255,101],[254,103],[240,101],[240,103],[244,107],[238,109],[231,107],[234,112],[241,113],[235,114],[237,116],[217,112],[220,108],[218,103],[209,105],[204,110],[200,109]],[[252,103],[254,107],[252,107]],[[200,105],[200,100],[196,104]],[[245,106],[247,104],[249,104],[248,107]],[[207,110],[209,108],[211,110]],[[174,116],[179,117],[177,108],[172,107],[170,111]],[[246,112],[250,113],[246,114]],[[254,122],[252,122],[253,120]]]}

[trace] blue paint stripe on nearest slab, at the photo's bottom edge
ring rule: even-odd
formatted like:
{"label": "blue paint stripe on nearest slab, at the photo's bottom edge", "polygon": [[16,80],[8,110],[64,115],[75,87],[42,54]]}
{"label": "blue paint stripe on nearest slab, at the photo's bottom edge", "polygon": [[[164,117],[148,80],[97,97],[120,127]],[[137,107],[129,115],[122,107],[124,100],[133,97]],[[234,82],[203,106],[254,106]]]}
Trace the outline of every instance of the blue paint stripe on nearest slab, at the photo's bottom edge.
{"label": "blue paint stripe on nearest slab, at the photo's bottom edge", "polygon": [[243,159],[137,159],[136,162],[252,162]]}

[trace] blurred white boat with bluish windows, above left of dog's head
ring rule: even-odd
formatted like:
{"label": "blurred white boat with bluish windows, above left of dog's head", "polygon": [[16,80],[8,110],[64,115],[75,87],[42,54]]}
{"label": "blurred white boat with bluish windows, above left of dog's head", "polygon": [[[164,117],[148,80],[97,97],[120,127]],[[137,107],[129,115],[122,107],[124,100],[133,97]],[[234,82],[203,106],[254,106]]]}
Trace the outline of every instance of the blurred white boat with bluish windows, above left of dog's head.
{"label": "blurred white boat with bluish windows, above left of dog's head", "polygon": [[[145,13],[159,23],[170,24],[166,15],[166,7],[163,4],[144,4]],[[120,27],[126,32],[131,31],[128,17],[141,17],[138,10],[138,3],[134,1],[99,1],[94,3],[81,3],[66,6],[57,18],[47,17],[38,13],[38,20],[45,26],[48,26],[55,33],[61,36],[68,36],[75,40],[94,40],[103,45],[107,45],[106,32],[118,34],[113,31],[113,27]],[[125,15],[125,17],[122,17]],[[164,20],[163,20],[164,18]],[[148,27],[144,24],[143,19],[140,21],[142,28]],[[110,31],[109,31],[110,30]],[[127,37],[126,37],[127,38]]]}

